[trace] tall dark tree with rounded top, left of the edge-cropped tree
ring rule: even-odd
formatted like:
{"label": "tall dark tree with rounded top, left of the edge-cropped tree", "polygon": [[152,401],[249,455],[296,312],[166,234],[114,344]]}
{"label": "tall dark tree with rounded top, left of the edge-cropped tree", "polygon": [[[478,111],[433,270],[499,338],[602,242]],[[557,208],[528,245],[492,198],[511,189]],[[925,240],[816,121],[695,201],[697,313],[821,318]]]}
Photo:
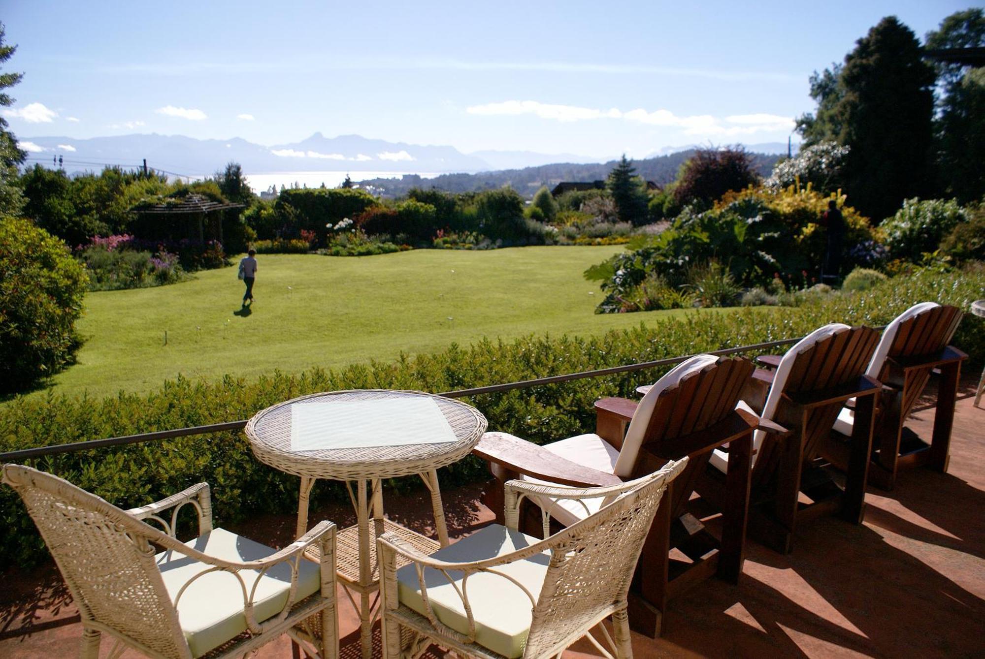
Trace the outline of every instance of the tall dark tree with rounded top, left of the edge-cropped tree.
{"label": "tall dark tree with rounded top, left of the edge-cropped tree", "polygon": [[930,186],[934,68],[912,30],[886,17],[856,42],[844,66],[812,78],[816,116],[798,129],[808,144],[850,148],[845,189],[855,208],[881,219]]}

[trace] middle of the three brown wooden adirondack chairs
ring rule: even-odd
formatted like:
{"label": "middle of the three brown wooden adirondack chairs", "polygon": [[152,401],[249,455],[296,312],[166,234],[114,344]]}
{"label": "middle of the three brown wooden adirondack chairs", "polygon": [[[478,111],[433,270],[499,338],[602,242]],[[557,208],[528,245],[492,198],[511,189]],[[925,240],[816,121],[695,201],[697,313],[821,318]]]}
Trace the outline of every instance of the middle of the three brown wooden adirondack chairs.
{"label": "middle of the three brown wooden adirondack chairs", "polygon": [[[831,324],[805,336],[781,359],[775,372],[757,369],[743,399],[764,419],[791,429],[783,440],[755,434],[750,533],[778,552],[788,553],[798,522],[840,511],[853,523],[862,521],[866,474],[872,447],[875,396],[879,382],[865,375],[879,332]],[[816,469],[821,440],[845,401],[856,399],[856,423],[848,455],[844,489]],[[702,498],[728,506],[726,473],[731,452],[716,450],[696,485]],[[745,464],[740,464],[745,471]],[[812,503],[799,503],[804,493]]]}

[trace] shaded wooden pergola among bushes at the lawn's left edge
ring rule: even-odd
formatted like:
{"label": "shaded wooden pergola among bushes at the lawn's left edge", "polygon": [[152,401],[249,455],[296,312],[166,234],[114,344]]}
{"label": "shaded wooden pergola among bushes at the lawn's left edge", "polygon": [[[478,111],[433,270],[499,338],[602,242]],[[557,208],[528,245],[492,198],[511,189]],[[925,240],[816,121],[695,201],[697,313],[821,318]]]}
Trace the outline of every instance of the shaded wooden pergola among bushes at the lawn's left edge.
{"label": "shaded wooden pergola among bushes at the lawn's left edge", "polygon": [[[138,235],[139,238],[197,238],[204,243],[207,233],[210,239],[223,242],[222,211],[242,208],[245,208],[242,204],[217,202],[205,195],[192,193],[183,198],[169,198],[161,204],[145,202],[130,210],[137,213],[139,230],[153,234]],[[165,215],[166,220],[158,215]],[[147,221],[151,218],[157,221]],[[182,227],[182,235],[175,236],[178,227]]]}

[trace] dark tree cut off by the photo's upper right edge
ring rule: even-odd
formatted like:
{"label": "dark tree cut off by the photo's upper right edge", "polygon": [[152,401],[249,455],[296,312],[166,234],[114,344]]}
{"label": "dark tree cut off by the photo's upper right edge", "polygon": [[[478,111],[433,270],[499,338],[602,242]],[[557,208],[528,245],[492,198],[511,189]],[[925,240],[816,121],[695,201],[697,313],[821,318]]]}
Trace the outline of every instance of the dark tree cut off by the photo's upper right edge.
{"label": "dark tree cut off by the photo's upper right edge", "polygon": [[[955,12],[927,33],[928,48],[985,46],[985,13]],[[985,68],[937,63],[938,117],[935,122],[941,187],[962,202],[985,195]]]}

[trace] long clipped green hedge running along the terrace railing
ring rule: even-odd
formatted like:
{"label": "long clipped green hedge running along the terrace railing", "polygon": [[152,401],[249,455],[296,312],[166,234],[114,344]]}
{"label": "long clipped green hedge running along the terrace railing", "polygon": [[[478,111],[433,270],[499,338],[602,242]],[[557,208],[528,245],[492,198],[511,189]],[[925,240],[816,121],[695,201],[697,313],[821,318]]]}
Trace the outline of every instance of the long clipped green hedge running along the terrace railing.
{"label": "long clipped green hedge running along the terrace railing", "polygon": [[[967,309],[985,289],[985,273],[920,272],[891,279],[858,294],[835,296],[792,309],[696,310],[684,319],[614,330],[598,337],[528,336],[484,339],[443,352],[360,364],[340,371],[314,369],[300,375],[274,373],[257,380],[226,377],[217,382],[178,379],[150,394],[119,393],[103,399],[18,398],[0,408],[0,451],[81,442],[249,417],[275,402],[331,389],[424,389],[447,391],[588,371],[803,335],[840,321],[879,326],[911,304],[936,300]],[[954,343],[975,361],[985,358],[985,323],[966,316]],[[632,395],[640,381],[660,370],[473,396],[490,428],[536,442],[590,429],[592,403],[604,395]],[[118,449],[88,450],[32,461],[122,507],[144,505],[207,480],[213,486],[218,523],[258,512],[296,509],[296,478],[258,462],[241,433],[219,433]],[[475,458],[444,470],[450,485],[484,478]],[[398,491],[410,484],[391,483]],[[344,497],[335,485],[319,484],[317,497]],[[317,504],[317,501],[315,502]],[[46,556],[23,506],[0,488],[0,567],[31,566]]]}

